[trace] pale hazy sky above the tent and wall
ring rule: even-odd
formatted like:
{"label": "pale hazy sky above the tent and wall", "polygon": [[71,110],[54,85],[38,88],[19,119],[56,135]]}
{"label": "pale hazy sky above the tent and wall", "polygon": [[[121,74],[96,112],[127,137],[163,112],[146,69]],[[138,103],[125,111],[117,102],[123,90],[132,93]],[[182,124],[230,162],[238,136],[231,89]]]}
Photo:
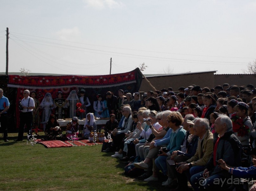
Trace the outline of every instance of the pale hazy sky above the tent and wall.
{"label": "pale hazy sky above the tent and wall", "polygon": [[1,0],[0,72],[242,74],[256,59],[255,0]]}

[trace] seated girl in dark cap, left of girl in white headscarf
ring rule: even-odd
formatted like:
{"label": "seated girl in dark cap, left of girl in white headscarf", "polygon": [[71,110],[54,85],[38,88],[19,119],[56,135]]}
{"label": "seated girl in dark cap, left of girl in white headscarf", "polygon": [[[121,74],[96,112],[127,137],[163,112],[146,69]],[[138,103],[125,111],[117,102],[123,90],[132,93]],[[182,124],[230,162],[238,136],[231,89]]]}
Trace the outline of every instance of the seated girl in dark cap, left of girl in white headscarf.
{"label": "seated girl in dark cap, left of girl in white headscarf", "polygon": [[78,118],[73,117],[72,121],[67,123],[66,138],[72,140],[78,140],[77,135],[79,134],[79,123]]}

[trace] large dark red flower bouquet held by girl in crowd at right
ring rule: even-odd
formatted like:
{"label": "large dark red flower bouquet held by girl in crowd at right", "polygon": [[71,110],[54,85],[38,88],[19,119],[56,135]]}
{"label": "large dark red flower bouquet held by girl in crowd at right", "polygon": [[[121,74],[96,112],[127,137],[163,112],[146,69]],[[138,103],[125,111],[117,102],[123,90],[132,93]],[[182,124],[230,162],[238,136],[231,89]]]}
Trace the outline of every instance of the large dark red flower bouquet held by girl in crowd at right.
{"label": "large dark red flower bouquet held by girl in crowd at right", "polygon": [[250,133],[250,128],[244,124],[244,120],[241,119],[236,114],[231,116],[231,121],[233,124],[233,132],[237,133],[238,136],[243,137]]}

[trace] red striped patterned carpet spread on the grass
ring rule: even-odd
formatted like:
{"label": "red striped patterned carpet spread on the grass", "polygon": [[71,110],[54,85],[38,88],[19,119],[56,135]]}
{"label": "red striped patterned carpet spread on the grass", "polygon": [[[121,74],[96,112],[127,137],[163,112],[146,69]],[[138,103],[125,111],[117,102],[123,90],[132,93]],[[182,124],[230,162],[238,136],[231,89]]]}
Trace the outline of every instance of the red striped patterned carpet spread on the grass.
{"label": "red striped patterned carpet spread on the grass", "polygon": [[[94,143],[90,142],[89,140],[36,140],[37,143],[44,145],[46,148],[57,148],[57,147],[70,147],[70,146],[90,146],[95,145]],[[96,145],[100,145],[102,143],[97,143]]]}

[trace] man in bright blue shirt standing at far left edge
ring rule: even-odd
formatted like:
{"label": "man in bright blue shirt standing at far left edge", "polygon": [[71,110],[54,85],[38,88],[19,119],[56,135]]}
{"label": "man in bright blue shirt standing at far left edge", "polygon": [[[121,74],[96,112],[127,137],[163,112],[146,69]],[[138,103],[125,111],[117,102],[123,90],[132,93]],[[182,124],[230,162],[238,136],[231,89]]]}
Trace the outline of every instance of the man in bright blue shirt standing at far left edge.
{"label": "man in bright blue shirt standing at far left edge", "polygon": [[10,102],[8,98],[3,96],[3,89],[0,88],[0,123],[1,131],[3,132],[4,142],[8,142],[7,139],[7,110],[9,109]]}

